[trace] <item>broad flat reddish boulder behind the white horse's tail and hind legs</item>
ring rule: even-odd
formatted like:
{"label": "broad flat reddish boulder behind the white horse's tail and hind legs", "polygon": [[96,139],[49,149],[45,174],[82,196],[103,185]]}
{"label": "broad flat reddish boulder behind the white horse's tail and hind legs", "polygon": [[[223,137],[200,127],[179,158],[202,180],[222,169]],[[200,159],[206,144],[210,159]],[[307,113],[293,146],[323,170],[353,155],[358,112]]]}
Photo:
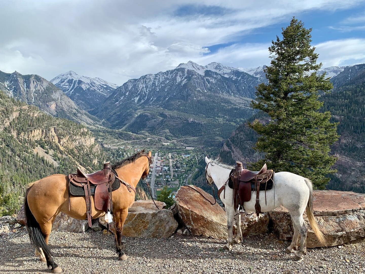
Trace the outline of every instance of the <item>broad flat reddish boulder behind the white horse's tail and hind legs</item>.
{"label": "broad flat reddish boulder behind the white horse's tail and hind legs", "polygon": [[[328,246],[337,246],[365,236],[365,194],[350,191],[313,191],[314,216]],[[291,217],[283,206],[270,212],[274,232],[281,240],[291,240]],[[312,231],[306,213],[308,227],[307,247],[321,247]]]}

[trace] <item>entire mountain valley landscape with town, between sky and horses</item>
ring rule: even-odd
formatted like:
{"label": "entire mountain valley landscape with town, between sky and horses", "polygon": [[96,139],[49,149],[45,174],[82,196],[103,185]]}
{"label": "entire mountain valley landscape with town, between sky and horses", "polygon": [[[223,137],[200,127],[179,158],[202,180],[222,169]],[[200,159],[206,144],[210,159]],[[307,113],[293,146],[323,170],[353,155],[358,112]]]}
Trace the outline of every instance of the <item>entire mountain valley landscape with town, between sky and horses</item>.
{"label": "entire mountain valley landscape with town, between sky and horses", "polygon": [[[250,107],[255,86],[264,80],[264,67],[188,62],[120,87],[72,71],[54,77],[51,82],[57,86],[38,75],[0,72],[1,187],[14,197],[22,196],[33,180],[71,173],[75,165],[92,172],[104,160],[113,163],[146,149],[155,155],[147,178],[155,197],[164,186],[174,193],[185,184],[211,193],[203,175],[205,155],[219,155],[227,164],[262,157],[253,149],[258,136],[245,123],[267,120]],[[331,77],[335,86],[323,96],[323,110],[331,110],[333,121],[341,122],[342,137],[332,147],[339,158],[338,173],[329,189],[365,192],[364,67],[319,72]],[[19,177],[19,172],[26,175]],[[145,182],[138,189],[140,197],[149,197]]]}

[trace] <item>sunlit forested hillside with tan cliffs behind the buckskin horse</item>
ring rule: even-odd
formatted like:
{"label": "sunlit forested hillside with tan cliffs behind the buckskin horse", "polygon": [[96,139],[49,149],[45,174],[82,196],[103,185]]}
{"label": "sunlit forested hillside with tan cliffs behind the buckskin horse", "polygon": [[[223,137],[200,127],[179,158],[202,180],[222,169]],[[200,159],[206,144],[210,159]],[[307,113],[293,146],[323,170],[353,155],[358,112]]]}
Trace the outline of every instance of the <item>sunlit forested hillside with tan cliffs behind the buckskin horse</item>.
{"label": "sunlit forested hillside with tan cliffs behind the buckskin horse", "polygon": [[0,215],[18,208],[28,183],[69,174],[76,165],[98,170],[104,159],[84,126],[54,118],[0,91]]}

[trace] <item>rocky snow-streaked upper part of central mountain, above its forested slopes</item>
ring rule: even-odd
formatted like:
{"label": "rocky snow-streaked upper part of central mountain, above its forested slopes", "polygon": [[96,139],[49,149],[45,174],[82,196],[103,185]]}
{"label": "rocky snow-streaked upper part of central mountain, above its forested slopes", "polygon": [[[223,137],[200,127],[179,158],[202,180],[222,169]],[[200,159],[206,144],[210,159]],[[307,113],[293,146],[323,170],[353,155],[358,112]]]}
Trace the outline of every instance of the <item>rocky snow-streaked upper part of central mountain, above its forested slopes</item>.
{"label": "rocky snow-streaked upper part of central mountain, above its forested slopes", "polygon": [[118,106],[126,102],[160,104],[204,94],[255,98],[257,84],[257,78],[238,69],[219,63],[201,66],[189,61],[175,69],[130,79],[117,88],[108,100],[114,100]]}

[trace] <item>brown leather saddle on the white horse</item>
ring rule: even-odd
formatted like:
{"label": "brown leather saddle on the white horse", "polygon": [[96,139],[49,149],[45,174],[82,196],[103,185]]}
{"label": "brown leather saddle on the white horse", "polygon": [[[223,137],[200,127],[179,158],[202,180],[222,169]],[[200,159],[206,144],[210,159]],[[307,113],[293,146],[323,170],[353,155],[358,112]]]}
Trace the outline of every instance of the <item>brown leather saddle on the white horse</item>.
{"label": "brown leather saddle on the white horse", "polygon": [[[265,191],[265,203],[266,203],[266,190],[273,187],[273,170],[268,170],[266,164],[259,171],[251,171],[242,168],[242,163],[237,161],[235,170],[233,173],[233,199],[234,206],[237,209],[238,206],[243,208],[243,203],[251,200],[251,191],[256,192],[255,210],[257,216],[261,212],[260,206],[260,190]],[[243,208],[244,210],[244,208]]]}

